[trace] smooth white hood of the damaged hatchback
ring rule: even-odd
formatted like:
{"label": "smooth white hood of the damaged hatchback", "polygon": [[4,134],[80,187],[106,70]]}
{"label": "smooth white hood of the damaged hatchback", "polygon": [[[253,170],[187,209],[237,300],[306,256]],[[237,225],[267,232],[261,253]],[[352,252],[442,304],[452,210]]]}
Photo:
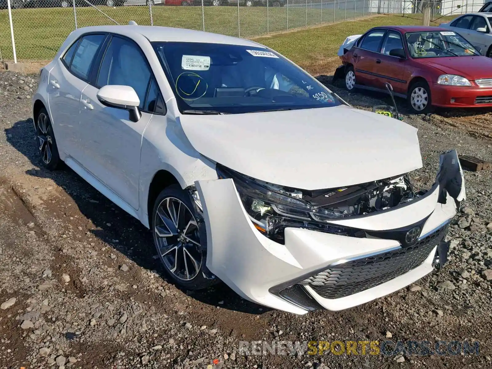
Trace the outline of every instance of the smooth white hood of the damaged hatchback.
{"label": "smooth white hood of the damaged hatchback", "polygon": [[416,128],[345,105],[181,115],[177,121],[200,154],[247,176],[288,187],[341,187],[422,166]]}

